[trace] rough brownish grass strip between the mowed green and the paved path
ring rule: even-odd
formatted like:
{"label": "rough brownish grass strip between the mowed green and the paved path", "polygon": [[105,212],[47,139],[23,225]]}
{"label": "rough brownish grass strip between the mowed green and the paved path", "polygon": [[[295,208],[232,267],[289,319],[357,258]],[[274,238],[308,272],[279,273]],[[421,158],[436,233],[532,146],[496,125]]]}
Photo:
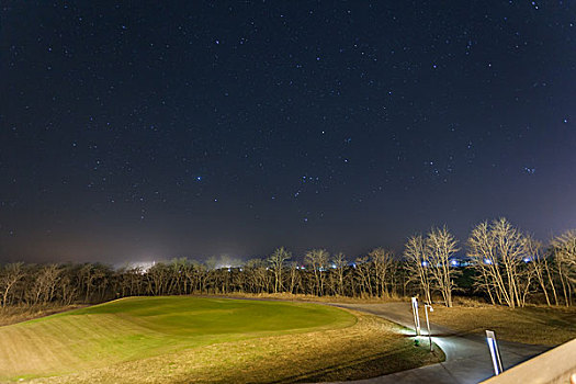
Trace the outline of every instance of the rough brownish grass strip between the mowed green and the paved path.
{"label": "rough brownish grass strip between the mowed green and the paved path", "polygon": [[192,348],[42,383],[294,383],[359,380],[443,360],[399,328],[353,312],[355,325]]}

